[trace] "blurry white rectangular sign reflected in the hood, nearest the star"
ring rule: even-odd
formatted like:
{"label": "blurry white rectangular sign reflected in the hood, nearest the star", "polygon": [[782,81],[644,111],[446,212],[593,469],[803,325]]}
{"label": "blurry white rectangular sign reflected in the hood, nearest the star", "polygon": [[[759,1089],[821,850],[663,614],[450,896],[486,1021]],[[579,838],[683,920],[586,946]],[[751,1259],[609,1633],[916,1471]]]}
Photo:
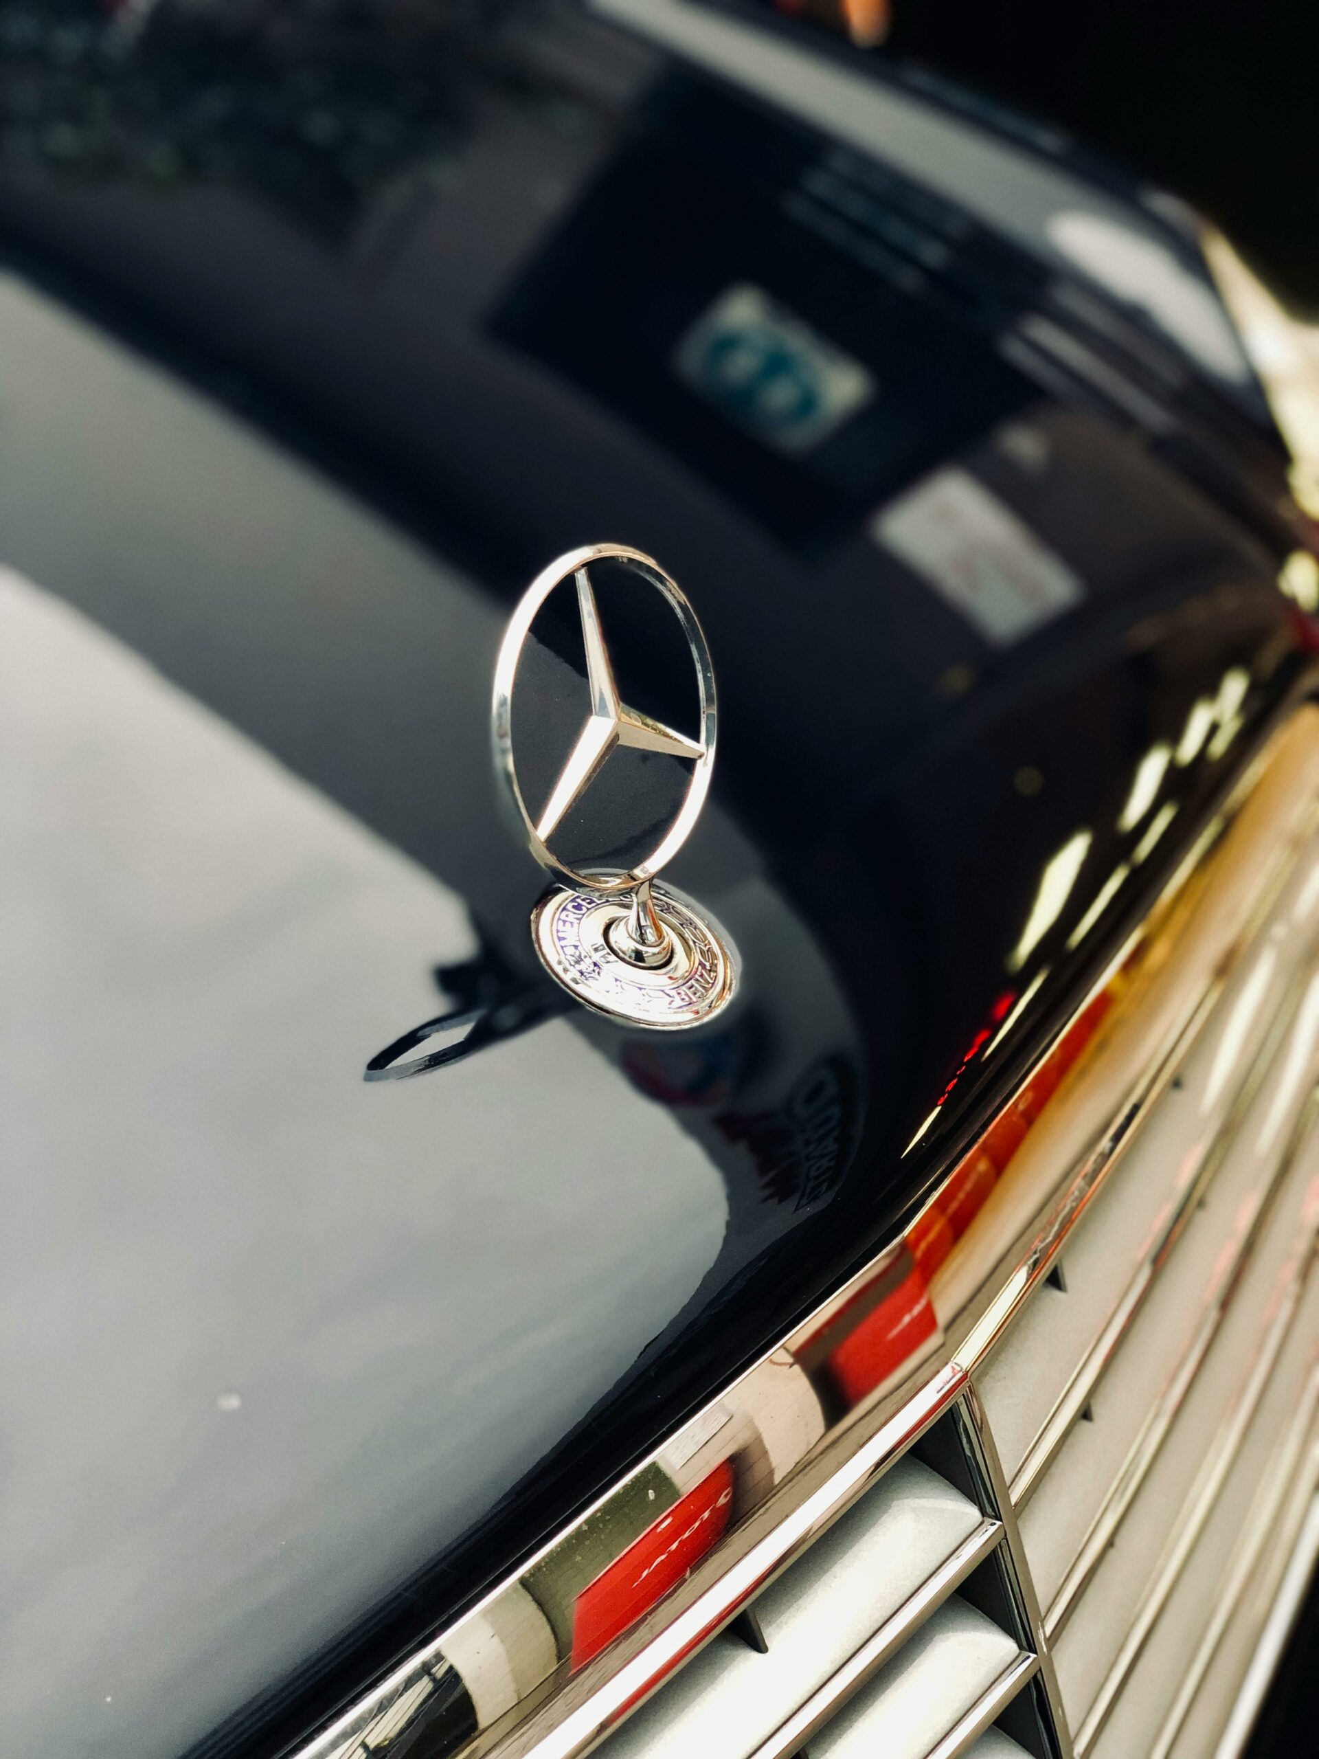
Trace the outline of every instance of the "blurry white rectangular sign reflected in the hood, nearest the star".
{"label": "blurry white rectangular sign reflected in the hood, nearest the star", "polygon": [[985,640],[1009,647],[1085,596],[1078,573],[964,470],[939,470],[871,521]]}

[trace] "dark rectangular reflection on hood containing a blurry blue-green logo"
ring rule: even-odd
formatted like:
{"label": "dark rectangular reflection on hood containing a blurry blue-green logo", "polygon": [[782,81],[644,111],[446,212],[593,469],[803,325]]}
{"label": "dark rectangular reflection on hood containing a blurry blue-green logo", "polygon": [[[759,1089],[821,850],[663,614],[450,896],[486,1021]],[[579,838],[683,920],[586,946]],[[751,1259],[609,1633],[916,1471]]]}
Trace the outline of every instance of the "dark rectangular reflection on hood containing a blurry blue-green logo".
{"label": "dark rectangular reflection on hood containing a blurry blue-green logo", "polygon": [[647,121],[510,285],[503,341],[805,545],[1031,398],[985,345],[1025,253],[684,74]]}

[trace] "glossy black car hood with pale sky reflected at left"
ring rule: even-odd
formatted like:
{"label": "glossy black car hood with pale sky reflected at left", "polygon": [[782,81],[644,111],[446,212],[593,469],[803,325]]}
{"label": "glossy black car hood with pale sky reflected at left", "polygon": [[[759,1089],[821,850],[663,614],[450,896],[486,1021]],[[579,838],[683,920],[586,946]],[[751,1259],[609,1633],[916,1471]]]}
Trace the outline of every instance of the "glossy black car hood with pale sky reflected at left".
{"label": "glossy black car hood with pale sky reflected at left", "polygon": [[[390,162],[389,202],[260,160],[0,192],[33,1752],[280,1750],[652,1446],[893,1230],[1300,670],[1249,376],[946,167],[841,158],[579,25],[557,62],[514,39],[522,86],[506,35],[459,46],[457,169]],[[139,84],[200,104],[195,47],[144,46]],[[684,378],[739,297],[871,387],[849,422],[784,445]],[[547,983],[543,876],[496,811],[503,621],[605,538],[681,580],[719,677],[674,876],[744,989],[691,1038]],[[579,665],[550,642],[550,709]],[[1140,853],[1122,807],[1162,746],[1177,828]],[[447,1004],[468,1055],[362,1082]]]}

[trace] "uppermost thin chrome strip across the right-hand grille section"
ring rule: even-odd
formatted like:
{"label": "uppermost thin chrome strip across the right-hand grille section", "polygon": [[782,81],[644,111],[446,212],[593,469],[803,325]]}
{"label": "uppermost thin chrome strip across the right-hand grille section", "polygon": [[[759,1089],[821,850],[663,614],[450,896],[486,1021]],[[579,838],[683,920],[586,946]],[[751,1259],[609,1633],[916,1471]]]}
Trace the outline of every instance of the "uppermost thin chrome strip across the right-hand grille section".
{"label": "uppermost thin chrome strip across the right-hand grille section", "polygon": [[1013,1476],[1011,1499],[1013,1507],[1018,1511],[1031,1500],[1031,1495],[1048,1471],[1053,1455],[1068,1439],[1071,1427],[1094,1397],[1094,1391],[1110,1361],[1117,1354],[1122,1339],[1127,1335],[1136,1314],[1145,1305],[1145,1296],[1154,1288],[1155,1277],[1168,1263],[1168,1258],[1180,1240],[1187,1221],[1194,1215],[1199,1200],[1213,1182],[1213,1175],[1219,1171],[1228,1149],[1236,1140],[1236,1135],[1245,1122],[1245,1115],[1273,1066],[1282,1038],[1291,1029],[1307,983],[1308,973],[1291,985],[1287,997],[1279,1010],[1277,1018],[1266,1031],[1264,1041],[1256,1052],[1243,1080],[1236,1085],[1236,1089],[1229,1087],[1222,1094],[1221,1103],[1215,1105],[1205,1117],[1201,1124],[1201,1138],[1196,1149],[1198,1164],[1189,1168],[1182,1191],[1171,1210],[1161,1219],[1161,1226],[1150,1240],[1136,1274],[1119,1296],[1119,1302],[1110,1312],[1097,1339],[1078,1361],[1071,1379],[1064,1386],[1050,1414],[1045,1418],[1045,1423],[1027,1448],[1025,1456]]}

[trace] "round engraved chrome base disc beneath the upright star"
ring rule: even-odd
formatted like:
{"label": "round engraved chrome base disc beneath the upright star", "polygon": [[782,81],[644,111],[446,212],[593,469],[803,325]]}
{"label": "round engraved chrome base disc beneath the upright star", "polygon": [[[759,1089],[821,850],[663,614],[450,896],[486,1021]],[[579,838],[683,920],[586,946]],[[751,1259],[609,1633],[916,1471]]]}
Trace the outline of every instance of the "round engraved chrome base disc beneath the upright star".
{"label": "round engraved chrome base disc beneath the upright star", "polygon": [[672,941],[663,966],[637,964],[616,952],[631,901],[589,890],[550,892],[531,911],[540,962],[570,996],[610,1020],[660,1033],[703,1025],[733,997],[733,952],[689,899],[660,885],[651,897]]}

